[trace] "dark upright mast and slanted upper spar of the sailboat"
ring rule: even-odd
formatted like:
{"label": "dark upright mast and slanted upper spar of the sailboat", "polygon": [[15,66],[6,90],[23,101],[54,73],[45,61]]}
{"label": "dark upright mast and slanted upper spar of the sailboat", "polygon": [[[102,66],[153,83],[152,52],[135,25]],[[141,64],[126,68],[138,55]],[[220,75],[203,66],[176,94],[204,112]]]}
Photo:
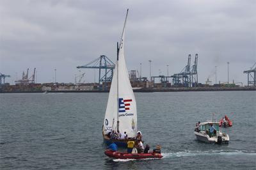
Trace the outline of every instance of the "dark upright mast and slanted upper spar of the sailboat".
{"label": "dark upright mast and slanted upper spar of the sailboat", "polygon": [[125,31],[125,25],[126,25],[126,20],[127,20],[127,15],[128,15],[128,11],[129,9],[127,9],[127,12],[126,12],[126,16],[125,16],[125,21],[124,21],[124,28],[123,28],[123,31],[122,31],[122,36],[121,36],[121,40],[120,40],[120,44],[119,44],[119,47],[118,47],[118,43],[117,43],[117,62],[116,62],[116,73],[117,73],[117,97],[116,97],[116,100],[117,100],[117,112],[116,112],[116,118],[117,118],[117,124],[116,124],[116,130],[119,131],[119,92],[118,92],[118,56],[119,56],[119,50],[123,48],[123,40],[124,40],[124,31]]}

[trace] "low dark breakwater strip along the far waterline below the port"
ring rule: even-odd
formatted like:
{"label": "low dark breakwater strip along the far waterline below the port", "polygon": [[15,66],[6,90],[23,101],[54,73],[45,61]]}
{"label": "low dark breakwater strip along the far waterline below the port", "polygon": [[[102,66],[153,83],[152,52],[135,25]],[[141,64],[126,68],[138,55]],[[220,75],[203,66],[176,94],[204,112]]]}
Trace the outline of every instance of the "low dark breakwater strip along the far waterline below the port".
{"label": "low dark breakwater strip along the far waterline below the port", "polygon": [[[141,88],[134,89],[135,93],[153,93],[153,92],[179,92],[179,91],[256,91],[255,86],[250,87],[236,87],[236,88]],[[45,91],[0,91],[0,93],[45,93]],[[103,90],[52,90],[47,93],[109,93]]]}

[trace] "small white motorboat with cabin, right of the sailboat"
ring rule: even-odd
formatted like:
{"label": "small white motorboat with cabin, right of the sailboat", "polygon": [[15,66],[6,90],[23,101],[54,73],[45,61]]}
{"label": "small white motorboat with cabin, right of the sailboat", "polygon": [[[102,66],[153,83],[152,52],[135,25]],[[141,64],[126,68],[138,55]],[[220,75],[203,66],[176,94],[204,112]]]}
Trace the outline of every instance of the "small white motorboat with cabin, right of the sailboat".
{"label": "small white motorboat with cabin, right of the sailboat", "polygon": [[[210,127],[214,127],[215,130],[210,137]],[[196,139],[198,141],[202,141],[205,143],[225,143],[228,144],[229,142],[229,137],[228,134],[225,134],[221,132],[221,129],[219,127],[219,122],[215,121],[206,121],[203,123],[200,123],[199,130],[195,130],[194,134],[196,135]]]}

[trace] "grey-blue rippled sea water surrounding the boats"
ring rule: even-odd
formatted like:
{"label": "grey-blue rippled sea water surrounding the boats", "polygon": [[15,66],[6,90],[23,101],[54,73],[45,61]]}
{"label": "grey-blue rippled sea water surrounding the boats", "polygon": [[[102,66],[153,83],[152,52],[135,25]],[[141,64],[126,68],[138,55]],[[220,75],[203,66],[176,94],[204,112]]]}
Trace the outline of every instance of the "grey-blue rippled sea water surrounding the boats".
{"label": "grey-blue rippled sea water surrounding the boats", "polygon": [[[256,91],[135,93],[145,143],[161,160],[104,155],[108,93],[0,94],[0,169],[256,169]],[[227,114],[228,145],[195,140],[197,121]]]}

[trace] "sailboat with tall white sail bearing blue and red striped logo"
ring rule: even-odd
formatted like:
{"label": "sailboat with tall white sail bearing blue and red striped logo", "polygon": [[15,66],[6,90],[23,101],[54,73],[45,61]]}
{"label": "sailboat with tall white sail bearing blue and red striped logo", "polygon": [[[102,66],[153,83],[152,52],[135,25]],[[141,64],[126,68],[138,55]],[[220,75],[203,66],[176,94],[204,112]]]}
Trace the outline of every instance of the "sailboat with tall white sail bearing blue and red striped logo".
{"label": "sailboat with tall white sail bearing blue and red striped logo", "polygon": [[[117,59],[102,128],[102,135],[106,144],[115,142],[118,146],[124,147],[127,146],[127,141],[134,140],[137,135],[136,100],[132,91],[124,57],[124,37],[127,15],[128,10],[125,17],[122,38],[120,43],[117,43]],[[108,134],[112,130],[115,130],[115,132],[119,131],[120,133],[126,132],[128,139],[110,139]]]}

